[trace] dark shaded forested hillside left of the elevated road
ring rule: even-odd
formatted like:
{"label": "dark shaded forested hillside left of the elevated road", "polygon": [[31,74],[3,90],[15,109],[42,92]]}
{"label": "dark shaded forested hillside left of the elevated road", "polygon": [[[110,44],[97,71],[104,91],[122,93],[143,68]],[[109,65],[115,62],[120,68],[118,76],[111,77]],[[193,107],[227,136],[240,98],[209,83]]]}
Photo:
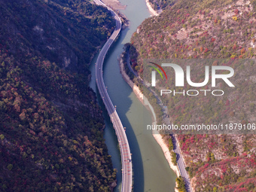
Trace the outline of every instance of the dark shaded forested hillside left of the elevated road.
{"label": "dark shaded forested hillside left of the elevated road", "polygon": [[111,191],[116,172],[88,87],[114,30],[81,0],[0,0],[0,191]]}

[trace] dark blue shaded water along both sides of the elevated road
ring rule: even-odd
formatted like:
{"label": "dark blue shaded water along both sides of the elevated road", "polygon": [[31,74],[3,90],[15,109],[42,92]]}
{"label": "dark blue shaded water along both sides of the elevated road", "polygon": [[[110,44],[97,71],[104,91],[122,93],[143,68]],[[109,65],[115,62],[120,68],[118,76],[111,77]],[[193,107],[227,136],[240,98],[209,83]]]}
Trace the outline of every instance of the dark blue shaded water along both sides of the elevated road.
{"label": "dark blue shaded water along both sides of the elevated road", "polygon": [[[113,59],[111,59],[111,57],[113,57],[113,56],[111,56],[111,55],[113,54],[114,50],[118,49],[118,50],[120,50],[120,53],[122,52],[122,50],[120,49],[120,47],[123,47],[123,44],[121,44],[121,41],[123,41],[123,37],[126,36],[126,32],[127,32],[127,30],[123,30],[120,33],[120,36],[117,39],[117,41],[115,41],[114,44],[112,44],[111,48],[108,50],[107,56],[105,57],[103,70],[108,69],[108,64],[113,62]],[[118,56],[120,55],[120,53],[117,53]],[[106,125],[104,138],[105,138],[106,145],[108,146],[108,154],[111,155],[111,160],[112,160],[114,169],[117,169],[117,187],[114,188],[114,192],[117,192],[117,191],[120,191],[121,179],[122,179],[120,148],[119,148],[119,145],[117,142],[117,136],[115,134],[114,127],[113,127],[111,120],[108,116],[108,112],[105,109],[105,105],[104,105],[102,98],[99,94],[98,87],[96,87],[96,79],[95,79],[95,75],[94,75],[94,73],[95,73],[95,65],[94,64],[96,62],[97,56],[98,56],[98,54],[96,54],[95,58],[93,59],[92,66],[90,66],[90,71],[92,74],[92,78],[90,81],[90,87],[92,87],[93,90],[96,91],[97,100],[98,100],[99,105],[101,106],[102,111],[103,111],[103,117],[105,119],[105,125]],[[115,57],[115,58],[116,58],[115,62],[117,62],[117,57]],[[117,66],[117,69],[119,72],[119,66]],[[116,72],[113,72],[113,74],[116,74]],[[105,80],[105,72],[103,72],[103,78]],[[106,82],[105,82],[105,85],[106,85]],[[111,91],[108,88],[107,88],[107,90],[108,90],[108,92]],[[134,187],[133,191],[141,192],[141,191],[144,191],[144,186],[145,186],[142,154],[139,149],[139,143],[136,139],[136,134],[133,131],[133,127],[125,115],[126,112],[130,110],[130,106],[132,105],[132,102],[133,102],[129,98],[131,93],[132,93],[132,90],[130,89],[130,87],[127,87],[125,89],[125,93],[122,95],[119,95],[119,96],[121,96],[121,99],[123,100],[125,105],[122,105],[121,112],[118,112],[118,110],[117,110],[117,114],[120,116],[120,120],[123,123],[123,126],[126,127],[126,136],[128,137],[131,153],[133,154],[132,160],[133,160],[133,162],[136,162],[136,163],[133,163],[133,170],[136,170],[136,172],[133,172],[133,181],[136,181],[133,184],[133,187]],[[113,96],[110,96],[110,97],[111,97],[111,99],[113,99]],[[117,103],[120,103],[120,102],[117,102]],[[114,105],[114,103],[113,103],[113,105]],[[120,105],[118,105],[118,106],[120,106]]]}

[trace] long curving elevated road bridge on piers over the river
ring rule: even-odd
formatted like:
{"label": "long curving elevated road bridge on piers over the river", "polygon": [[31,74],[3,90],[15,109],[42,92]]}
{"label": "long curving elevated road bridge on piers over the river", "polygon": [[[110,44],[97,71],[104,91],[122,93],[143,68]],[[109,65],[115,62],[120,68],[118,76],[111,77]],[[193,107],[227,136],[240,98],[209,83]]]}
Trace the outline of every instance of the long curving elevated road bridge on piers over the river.
{"label": "long curving elevated road bridge on piers over the river", "polygon": [[[104,3],[102,3],[100,0],[93,0],[97,5],[102,5],[105,8],[108,8]],[[108,38],[108,41],[104,44],[102,47],[102,50],[99,53],[98,59],[96,61],[96,70],[95,70],[95,76],[96,76],[96,84],[99,89],[100,96],[102,97],[102,100],[104,102],[105,108],[108,111],[108,115],[111,118],[111,122],[113,123],[115,133],[117,134],[117,139],[120,146],[120,155],[121,155],[121,161],[122,161],[122,192],[130,192],[133,188],[133,166],[132,166],[132,157],[130,153],[130,146],[129,142],[126,137],[125,129],[123,128],[123,124],[120,121],[120,118],[117,114],[117,111],[114,108],[113,103],[111,102],[111,99],[108,96],[107,89],[104,84],[103,80],[103,62],[105,59],[105,55],[108,52],[108,49],[111,47],[111,44],[114,42],[114,39],[117,38],[117,35],[120,33],[120,29],[122,26],[120,17],[111,8],[108,8],[109,11],[111,11],[111,14],[113,15],[115,21],[116,21],[116,27],[114,29],[114,32]]]}

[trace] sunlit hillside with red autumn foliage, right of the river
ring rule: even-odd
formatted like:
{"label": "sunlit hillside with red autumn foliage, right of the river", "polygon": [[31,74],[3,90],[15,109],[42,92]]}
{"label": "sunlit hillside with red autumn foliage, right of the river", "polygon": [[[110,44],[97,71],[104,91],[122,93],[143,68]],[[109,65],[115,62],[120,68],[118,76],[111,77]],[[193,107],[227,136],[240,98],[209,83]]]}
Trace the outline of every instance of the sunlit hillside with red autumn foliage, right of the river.
{"label": "sunlit hillside with red autumn foliage, right of the river", "polygon": [[[146,70],[142,65],[144,59],[216,59],[210,66],[231,66],[236,72],[233,78],[236,87],[226,89],[223,84],[218,84],[218,88],[225,91],[225,95],[218,99],[212,96],[161,97],[168,106],[171,123],[255,123],[256,2],[152,2],[160,5],[163,13],[145,20],[133,34],[130,44],[130,60],[141,77]],[[248,61],[239,65],[236,62],[239,59]],[[202,75],[192,77],[193,82],[202,82],[203,67],[200,69],[193,63],[190,66],[194,72],[202,72]],[[185,65],[182,67],[184,69]],[[174,79],[168,79],[170,90],[175,88],[172,86]],[[165,79],[157,81],[156,88],[166,89]],[[185,85],[184,89],[194,88]],[[151,102],[156,101],[152,94],[144,93]],[[157,113],[163,114],[159,108]],[[157,117],[160,123],[161,116]],[[166,136],[166,139],[170,137]],[[196,191],[256,190],[255,139],[251,134],[179,135],[186,169]]]}

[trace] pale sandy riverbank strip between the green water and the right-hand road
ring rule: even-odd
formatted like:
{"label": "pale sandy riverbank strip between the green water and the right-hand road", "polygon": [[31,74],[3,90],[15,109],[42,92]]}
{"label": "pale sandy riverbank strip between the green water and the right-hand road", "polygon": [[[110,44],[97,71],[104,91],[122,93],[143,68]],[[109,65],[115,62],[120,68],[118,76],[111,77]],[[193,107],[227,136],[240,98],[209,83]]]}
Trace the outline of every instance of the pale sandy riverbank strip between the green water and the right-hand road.
{"label": "pale sandy riverbank strip between the green water and the right-hand road", "polygon": [[[133,89],[133,92],[136,94],[136,97],[139,99],[139,101],[142,102],[143,105],[146,105],[148,108],[151,109],[151,112],[153,114],[153,124],[156,124],[157,121],[156,121],[156,116],[154,114],[154,108],[148,102],[148,99],[145,98],[145,96],[143,96],[143,93],[139,90],[139,87],[136,86],[136,84],[134,84],[133,81],[131,81],[129,76],[126,74],[122,58],[123,58],[123,53],[120,56],[120,59],[118,59],[118,60],[119,60],[120,73],[121,73],[124,81],[126,81],[126,83],[130,85],[130,87]],[[169,152],[169,148],[166,145],[166,143],[164,142],[160,133],[158,133],[157,130],[154,130],[152,132],[152,135],[154,136],[154,139],[157,141],[158,145],[160,145],[160,147],[162,148],[163,154],[166,157],[166,160],[169,163],[170,168],[175,172],[177,177],[180,176],[180,173],[178,172],[178,166],[175,166],[172,163],[172,157],[171,157],[171,154]],[[178,189],[176,187],[175,187],[175,192],[178,192]]]}

